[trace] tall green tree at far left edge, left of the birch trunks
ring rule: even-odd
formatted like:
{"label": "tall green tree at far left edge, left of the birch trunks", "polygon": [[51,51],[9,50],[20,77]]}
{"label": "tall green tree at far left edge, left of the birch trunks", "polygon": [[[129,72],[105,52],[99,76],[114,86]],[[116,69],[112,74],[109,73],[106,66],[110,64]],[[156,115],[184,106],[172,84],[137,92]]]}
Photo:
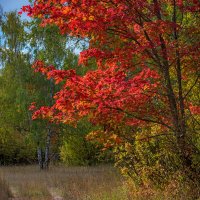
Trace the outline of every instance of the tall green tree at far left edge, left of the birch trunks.
{"label": "tall green tree at far left edge, left of the birch trunks", "polygon": [[30,140],[32,79],[29,55],[25,53],[25,24],[16,13],[8,13],[1,24],[0,144],[1,164],[30,163],[36,146]]}

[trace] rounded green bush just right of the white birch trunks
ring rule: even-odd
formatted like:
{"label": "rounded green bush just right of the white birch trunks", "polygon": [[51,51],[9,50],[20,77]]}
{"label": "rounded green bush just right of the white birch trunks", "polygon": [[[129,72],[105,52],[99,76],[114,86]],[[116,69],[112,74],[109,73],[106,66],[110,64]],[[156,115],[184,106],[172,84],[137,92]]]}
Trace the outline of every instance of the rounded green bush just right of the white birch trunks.
{"label": "rounded green bush just right of the white birch trunks", "polygon": [[87,119],[79,122],[77,127],[64,126],[61,139],[60,157],[67,165],[93,165],[105,162],[106,155],[95,143],[86,139],[86,135],[95,130]]}

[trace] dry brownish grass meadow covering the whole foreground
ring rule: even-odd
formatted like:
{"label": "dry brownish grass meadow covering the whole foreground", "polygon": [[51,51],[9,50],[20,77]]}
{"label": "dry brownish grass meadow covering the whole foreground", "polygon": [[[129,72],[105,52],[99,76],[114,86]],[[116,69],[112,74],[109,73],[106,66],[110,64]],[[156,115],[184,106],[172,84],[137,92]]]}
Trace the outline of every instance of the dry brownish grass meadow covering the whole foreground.
{"label": "dry brownish grass meadow covering the whole foreground", "polygon": [[136,187],[123,180],[111,166],[57,166],[48,171],[40,171],[37,166],[1,167],[0,174],[6,181],[0,183],[0,200],[7,200],[10,190],[16,200],[198,199],[192,197],[190,184],[181,185],[174,179],[162,191],[151,185]]}

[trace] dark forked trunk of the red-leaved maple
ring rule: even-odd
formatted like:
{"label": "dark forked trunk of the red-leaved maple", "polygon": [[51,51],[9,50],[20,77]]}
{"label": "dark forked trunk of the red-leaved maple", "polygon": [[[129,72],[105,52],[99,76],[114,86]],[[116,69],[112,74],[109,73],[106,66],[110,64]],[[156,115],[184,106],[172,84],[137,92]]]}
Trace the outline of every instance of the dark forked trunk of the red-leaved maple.
{"label": "dark forked trunk of the red-leaved maple", "polygon": [[[160,9],[158,6],[158,1],[154,0],[154,5],[156,8],[156,15],[159,20],[162,19]],[[173,10],[173,22],[176,23],[176,1],[174,1],[174,10]],[[159,35],[160,44],[161,44],[161,52],[159,58],[159,68],[163,74],[163,78],[165,81],[166,94],[169,102],[169,108],[172,117],[172,126],[177,138],[177,145],[179,149],[179,154],[181,156],[183,165],[192,168],[192,152],[190,144],[186,139],[186,121],[185,121],[185,106],[184,106],[184,98],[183,98],[183,89],[182,89],[182,73],[181,73],[181,60],[180,54],[178,51],[178,32],[177,28],[174,28],[174,40],[176,41],[176,75],[177,75],[177,84],[178,84],[178,97],[176,97],[173,86],[172,86],[172,78],[170,76],[170,65],[168,63],[168,51],[165,44],[165,40],[162,34]],[[157,56],[157,55],[155,55]]]}

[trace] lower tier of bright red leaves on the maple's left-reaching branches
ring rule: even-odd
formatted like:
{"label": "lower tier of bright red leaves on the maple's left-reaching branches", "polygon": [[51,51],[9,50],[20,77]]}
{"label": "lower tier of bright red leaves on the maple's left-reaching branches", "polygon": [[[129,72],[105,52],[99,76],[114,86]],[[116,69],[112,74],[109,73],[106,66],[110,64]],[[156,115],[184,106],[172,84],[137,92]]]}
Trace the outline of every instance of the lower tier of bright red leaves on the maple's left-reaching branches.
{"label": "lower tier of bright red leaves on the maple's left-reaching branches", "polygon": [[127,124],[133,125],[141,121],[131,117],[133,113],[145,115],[156,112],[151,103],[155,95],[149,95],[148,91],[156,91],[159,75],[150,69],[132,78],[127,78],[127,74],[118,67],[89,71],[81,77],[74,70],[45,68],[41,61],[36,64],[36,71],[54,78],[56,83],[64,80],[64,85],[54,96],[55,104],[40,108],[34,113],[34,119],[48,117],[56,122],[73,123],[89,115],[95,123],[105,123],[107,120],[119,122],[124,119]]}

